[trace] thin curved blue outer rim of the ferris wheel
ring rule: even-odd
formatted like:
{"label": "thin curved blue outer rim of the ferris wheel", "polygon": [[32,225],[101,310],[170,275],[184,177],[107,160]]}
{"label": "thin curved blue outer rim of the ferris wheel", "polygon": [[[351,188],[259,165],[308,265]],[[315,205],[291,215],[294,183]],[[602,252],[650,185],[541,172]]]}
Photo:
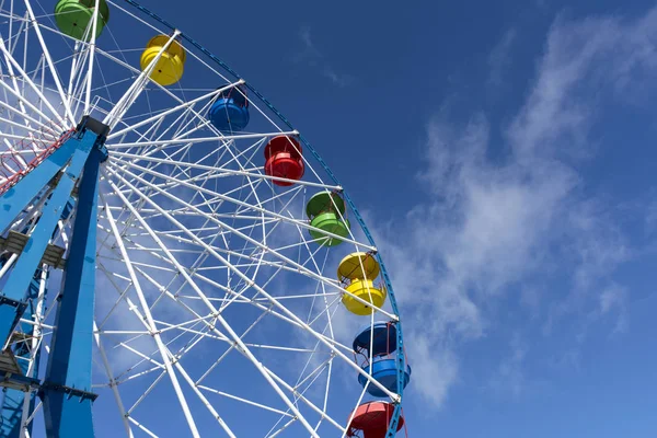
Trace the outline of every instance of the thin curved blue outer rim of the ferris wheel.
{"label": "thin curved blue outer rim of the ferris wheel", "polygon": [[[217,56],[215,56],[207,48],[205,48],[204,46],[201,46],[198,42],[196,42],[195,39],[193,39],[189,35],[185,34],[184,32],[181,32],[173,24],[169,23],[168,21],[165,21],[161,16],[159,16],[155,13],[151,12],[149,9],[142,7],[137,1],[135,1],[135,0],[124,0],[124,1],[126,3],[132,5],[132,7],[137,8],[140,12],[149,15],[151,19],[158,21],[160,24],[166,26],[170,31],[172,31],[172,32],[180,32],[180,37],[182,37],[187,43],[189,43],[191,45],[193,45],[194,47],[196,47],[204,55],[208,56],[210,59],[212,59],[215,62],[217,62],[221,68],[223,68],[231,76],[233,76],[237,80],[242,80],[242,77],[240,74],[238,74],[233,69],[231,69],[226,62],[223,62],[221,59],[219,59]],[[261,94],[253,85],[251,85],[251,83],[244,81],[244,87],[246,87],[246,89],[249,91],[251,91],[253,93],[253,95],[255,95],[262,103],[264,103],[267,106],[267,108],[269,108],[269,111],[272,111],[274,114],[276,114],[278,116],[278,118],[280,119],[280,122],[283,122],[286,126],[288,126],[290,130],[295,130],[296,131],[296,129],[292,126],[292,124],[278,110],[276,110],[276,107],[263,94]],[[299,139],[301,140],[302,145],[312,153],[312,155],[315,158],[315,160],[318,160],[318,162],[322,165],[322,168],[324,169],[324,171],[326,172],[326,174],[328,174],[328,176],[331,177],[331,180],[333,180],[333,182],[335,183],[335,185],[342,187],[342,185],[341,185],[339,180],[337,178],[337,176],[335,176],[335,174],[331,171],[331,169],[328,168],[328,165],[326,165],[326,163],[324,162],[324,160],[320,157],[320,154],[318,153],[318,151],[310,145],[310,142],[303,136],[301,136],[301,135],[299,135]],[[343,188],[342,193],[343,193],[343,196],[344,196],[347,205],[349,206],[349,208],[351,209],[354,216],[356,217],[356,220],[358,221],[358,223],[362,228],[362,231],[364,231],[365,235],[367,237],[367,240],[369,241],[369,243],[372,246],[376,247],[374,239],[373,239],[372,234],[370,233],[369,229],[367,228],[367,226],[365,223],[365,220],[362,219],[362,216],[360,215],[360,212],[356,208],[356,205],[354,204],[354,201],[351,200],[351,198],[349,197],[349,195],[344,191],[344,188]],[[381,266],[381,277],[383,278],[383,281],[384,281],[385,287],[388,289],[388,293],[389,293],[389,297],[390,297],[390,306],[392,307],[392,310],[393,310],[394,314],[397,315],[397,319],[399,319],[400,312],[399,312],[399,307],[397,307],[397,303],[396,303],[396,299],[394,297],[394,291],[393,291],[392,283],[390,280],[390,275],[388,274],[388,269],[385,268],[385,264],[383,263],[383,260],[381,258],[381,254],[379,252],[376,253],[376,258],[377,258],[377,262],[379,262],[379,264]],[[400,350],[400,354],[397,355],[397,359],[396,359],[397,360],[397,390],[396,390],[396,394],[401,399],[402,395],[403,395],[403,392],[404,392],[403,382],[404,382],[404,372],[405,372],[405,369],[406,369],[406,354],[405,354],[405,349],[404,349],[404,337],[403,337],[403,332],[402,332],[401,320],[397,320],[395,323],[396,323],[396,327],[397,327],[397,348]],[[402,405],[401,405],[401,403],[396,403],[395,406],[394,406],[393,416],[392,416],[392,418],[390,420],[390,425],[388,427],[388,434],[385,436],[387,438],[393,438],[396,435],[396,429],[397,429],[397,425],[399,425],[399,420],[400,420],[401,414],[402,414]]]}

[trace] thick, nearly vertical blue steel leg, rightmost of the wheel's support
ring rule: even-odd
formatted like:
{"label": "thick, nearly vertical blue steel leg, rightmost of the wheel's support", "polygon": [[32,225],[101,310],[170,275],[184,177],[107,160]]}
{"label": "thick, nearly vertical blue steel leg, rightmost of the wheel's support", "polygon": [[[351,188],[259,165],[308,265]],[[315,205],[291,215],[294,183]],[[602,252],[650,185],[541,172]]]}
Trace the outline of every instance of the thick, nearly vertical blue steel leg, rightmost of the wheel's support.
{"label": "thick, nearly vertical blue steel leg, rightmost of the wheel's support", "polygon": [[[91,138],[90,138],[91,137]],[[64,287],[57,307],[50,355],[41,396],[46,434],[93,437],[91,393],[95,257],[100,164],[104,158],[97,136],[87,131],[92,150],[80,181]],[[66,321],[66,323],[65,323]]]}

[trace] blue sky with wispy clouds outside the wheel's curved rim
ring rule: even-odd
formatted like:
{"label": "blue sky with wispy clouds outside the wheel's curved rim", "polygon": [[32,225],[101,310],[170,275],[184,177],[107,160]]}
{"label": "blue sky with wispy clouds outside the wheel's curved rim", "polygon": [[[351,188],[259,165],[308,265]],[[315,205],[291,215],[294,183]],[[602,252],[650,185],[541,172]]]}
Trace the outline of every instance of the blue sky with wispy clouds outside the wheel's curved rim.
{"label": "blue sky with wispy clouds outside the wheel's curved rim", "polygon": [[654,2],[142,3],[274,102],[366,214],[410,436],[657,434]]}

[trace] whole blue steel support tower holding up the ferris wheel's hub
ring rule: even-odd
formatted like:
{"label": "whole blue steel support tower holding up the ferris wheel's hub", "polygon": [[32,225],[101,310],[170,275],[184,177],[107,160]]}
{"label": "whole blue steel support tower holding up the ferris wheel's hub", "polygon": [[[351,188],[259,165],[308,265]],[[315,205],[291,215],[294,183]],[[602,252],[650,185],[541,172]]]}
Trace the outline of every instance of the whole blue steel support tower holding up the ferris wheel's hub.
{"label": "whole blue steel support tower holding up the ferris wheel's hub", "polygon": [[[108,126],[85,116],[38,157],[37,165],[0,187],[0,232],[5,251],[18,256],[0,289],[0,385],[4,387],[0,436],[19,437],[25,397],[43,400],[49,437],[92,437],[91,392],[95,292],[96,215],[100,164],[107,159]],[[77,189],[77,191],[76,191]],[[21,216],[43,203],[27,224]],[[57,222],[74,210],[68,258],[49,243]],[[8,250],[9,249],[9,250]],[[8,263],[7,256],[0,265]],[[44,264],[64,269],[45,378],[38,379],[38,357],[27,369],[28,337],[21,318],[42,287]],[[20,365],[19,365],[20,364]]]}

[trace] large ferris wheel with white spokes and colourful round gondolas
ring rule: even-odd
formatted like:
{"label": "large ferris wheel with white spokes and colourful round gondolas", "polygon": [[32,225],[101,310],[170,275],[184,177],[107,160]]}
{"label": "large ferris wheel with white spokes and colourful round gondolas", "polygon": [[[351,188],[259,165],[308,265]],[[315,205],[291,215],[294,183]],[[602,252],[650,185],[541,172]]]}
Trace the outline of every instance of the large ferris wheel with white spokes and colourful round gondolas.
{"label": "large ferris wheel with white spokes and colourful round gondolas", "polygon": [[0,0],[2,437],[364,437],[411,379],[361,216],[132,0]]}

